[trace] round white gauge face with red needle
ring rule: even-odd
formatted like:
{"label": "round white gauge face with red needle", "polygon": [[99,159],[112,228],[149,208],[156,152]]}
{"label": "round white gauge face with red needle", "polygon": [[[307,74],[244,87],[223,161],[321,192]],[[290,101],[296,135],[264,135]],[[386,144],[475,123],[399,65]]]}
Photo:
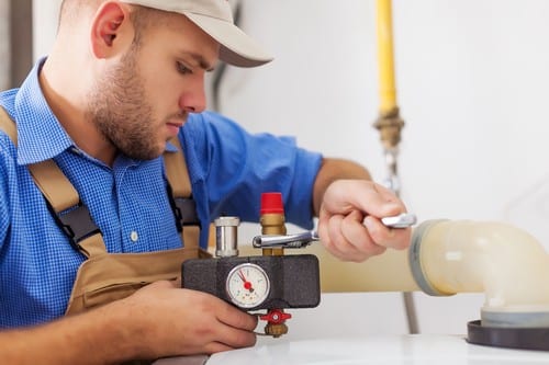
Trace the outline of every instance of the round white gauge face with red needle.
{"label": "round white gauge face with red needle", "polygon": [[235,305],[240,308],[254,308],[267,299],[270,282],[260,266],[243,263],[231,270],[225,288]]}

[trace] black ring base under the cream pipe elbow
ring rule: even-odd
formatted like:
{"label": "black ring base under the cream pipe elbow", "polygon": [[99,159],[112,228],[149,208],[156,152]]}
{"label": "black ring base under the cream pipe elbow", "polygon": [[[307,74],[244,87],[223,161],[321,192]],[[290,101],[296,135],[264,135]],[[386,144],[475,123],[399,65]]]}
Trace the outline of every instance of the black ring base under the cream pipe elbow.
{"label": "black ring base under the cream pipe elbow", "polygon": [[549,351],[549,328],[483,327],[480,320],[467,323],[467,342],[509,349]]}

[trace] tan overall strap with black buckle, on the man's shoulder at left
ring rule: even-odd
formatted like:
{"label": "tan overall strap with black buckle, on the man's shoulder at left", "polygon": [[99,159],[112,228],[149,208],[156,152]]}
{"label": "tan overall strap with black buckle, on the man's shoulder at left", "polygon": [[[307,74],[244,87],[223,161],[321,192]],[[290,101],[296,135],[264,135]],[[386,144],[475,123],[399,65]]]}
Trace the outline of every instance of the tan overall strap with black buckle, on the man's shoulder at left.
{"label": "tan overall strap with black buckle, on the man's shoulder at left", "polygon": [[[16,146],[16,127],[8,113],[0,107],[0,128],[7,132]],[[65,231],[70,243],[86,256],[105,252],[101,230],[91,219],[78,192],[54,160],[29,166],[29,171],[46,198],[58,226]]]}

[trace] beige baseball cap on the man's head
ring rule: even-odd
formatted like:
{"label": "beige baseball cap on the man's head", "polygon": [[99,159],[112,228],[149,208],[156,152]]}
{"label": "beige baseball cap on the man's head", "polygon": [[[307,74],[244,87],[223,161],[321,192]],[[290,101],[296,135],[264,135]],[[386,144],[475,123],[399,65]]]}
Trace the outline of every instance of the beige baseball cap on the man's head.
{"label": "beige baseball cap on the man's head", "polygon": [[255,67],[272,60],[261,47],[234,24],[227,0],[122,0],[186,15],[221,45],[220,59],[238,67]]}

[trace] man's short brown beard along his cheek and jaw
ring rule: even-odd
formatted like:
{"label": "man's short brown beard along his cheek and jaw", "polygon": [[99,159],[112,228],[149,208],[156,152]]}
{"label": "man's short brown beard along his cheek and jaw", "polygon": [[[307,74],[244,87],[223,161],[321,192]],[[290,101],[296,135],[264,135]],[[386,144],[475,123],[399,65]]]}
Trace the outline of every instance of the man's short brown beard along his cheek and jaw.
{"label": "man's short brown beard along his cheek and jaw", "polygon": [[87,119],[120,152],[138,160],[160,156],[159,125],[153,119],[134,49],[97,81],[88,98]]}

